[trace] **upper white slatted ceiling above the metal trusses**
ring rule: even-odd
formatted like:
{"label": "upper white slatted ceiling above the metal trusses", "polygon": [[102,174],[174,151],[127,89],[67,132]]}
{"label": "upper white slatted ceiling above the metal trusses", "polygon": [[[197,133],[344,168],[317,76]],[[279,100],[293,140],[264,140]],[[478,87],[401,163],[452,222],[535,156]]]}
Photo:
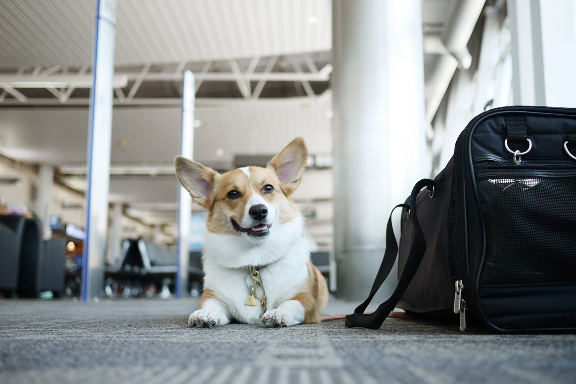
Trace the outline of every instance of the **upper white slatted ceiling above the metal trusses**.
{"label": "upper white slatted ceiling above the metal trusses", "polygon": [[[90,64],[94,4],[0,2],[0,67]],[[119,66],[332,47],[329,0],[118,0],[116,9]]]}

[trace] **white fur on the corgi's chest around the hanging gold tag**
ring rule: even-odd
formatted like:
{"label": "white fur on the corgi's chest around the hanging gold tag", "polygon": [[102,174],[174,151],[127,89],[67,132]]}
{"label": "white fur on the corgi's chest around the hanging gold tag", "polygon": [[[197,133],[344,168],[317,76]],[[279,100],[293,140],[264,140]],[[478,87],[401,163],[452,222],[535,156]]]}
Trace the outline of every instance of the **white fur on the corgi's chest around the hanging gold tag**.
{"label": "white fur on the corgi's chest around the hanging gold tag", "polygon": [[[301,223],[298,223],[294,229],[301,229]],[[210,244],[214,243],[221,246],[224,236],[213,235],[207,238],[207,246],[203,255],[204,288],[213,290],[237,321],[246,324],[261,324],[263,311],[260,301],[256,299],[256,306],[244,304],[253,283],[250,277],[250,269],[223,267],[221,263],[218,263],[218,260],[221,260],[218,256],[222,255],[210,253],[215,252],[214,247]],[[274,243],[272,242],[272,244]],[[266,290],[267,309],[275,309],[297,294],[298,288],[301,288],[302,284],[306,282],[308,277],[308,266],[306,263],[309,260],[308,241],[305,238],[298,237],[293,240],[291,245],[286,248],[280,248],[283,251],[281,255],[275,253],[275,249],[258,249],[255,247],[251,249],[260,252],[239,252],[230,256],[233,256],[241,263],[253,260],[253,264],[249,263],[249,265],[266,265],[259,271],[260,279],[262,279]],[[238,247],[237,251],[240,250],[241,247]],[[230,249],[230,252],[234,252],[234,250]],[[263,259],[266,258],[275,261],[269,264],[262,263]],[[257,294],[262,296],[260,287],[257,288]]]}

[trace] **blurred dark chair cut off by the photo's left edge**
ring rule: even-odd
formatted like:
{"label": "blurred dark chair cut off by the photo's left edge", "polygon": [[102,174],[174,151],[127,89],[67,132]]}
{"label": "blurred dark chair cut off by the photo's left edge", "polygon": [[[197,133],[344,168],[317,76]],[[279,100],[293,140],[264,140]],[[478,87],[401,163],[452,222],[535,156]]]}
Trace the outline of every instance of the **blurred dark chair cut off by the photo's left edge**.
{"label": "blurred dark chair cut off by the photo's left edge", "polygon": [[24,221],[23,216],[0,216],[0,291],[4,297],[16,292]]}

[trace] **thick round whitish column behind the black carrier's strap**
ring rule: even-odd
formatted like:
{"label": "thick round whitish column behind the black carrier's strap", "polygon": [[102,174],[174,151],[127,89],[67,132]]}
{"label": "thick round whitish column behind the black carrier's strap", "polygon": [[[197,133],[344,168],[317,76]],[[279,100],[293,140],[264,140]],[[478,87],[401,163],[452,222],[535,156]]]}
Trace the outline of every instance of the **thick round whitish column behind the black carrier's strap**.
{"label": "thick round whitish column behind the black carrier's strap", "polygon": [[[333,0],[332,41],[337,292],[358,300],[382,261],[391,208],[429,173],[420,0]],[[374,302],[396,282],[392,271]]]}

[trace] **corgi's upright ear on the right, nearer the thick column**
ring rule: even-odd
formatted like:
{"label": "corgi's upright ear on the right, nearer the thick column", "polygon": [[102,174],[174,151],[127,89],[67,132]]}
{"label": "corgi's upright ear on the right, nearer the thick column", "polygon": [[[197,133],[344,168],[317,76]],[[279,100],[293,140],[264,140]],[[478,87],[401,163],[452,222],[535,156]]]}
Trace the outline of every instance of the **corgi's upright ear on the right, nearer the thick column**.
{"label": "corgi's upright ear on the right, nearer the thick column", "polygon": [[268,163],[267,166],[274,168],[278,174],[286,196],[290,196],[298,188],[306,168],[306,157],[308,150],[304,139],[295,138]]}

